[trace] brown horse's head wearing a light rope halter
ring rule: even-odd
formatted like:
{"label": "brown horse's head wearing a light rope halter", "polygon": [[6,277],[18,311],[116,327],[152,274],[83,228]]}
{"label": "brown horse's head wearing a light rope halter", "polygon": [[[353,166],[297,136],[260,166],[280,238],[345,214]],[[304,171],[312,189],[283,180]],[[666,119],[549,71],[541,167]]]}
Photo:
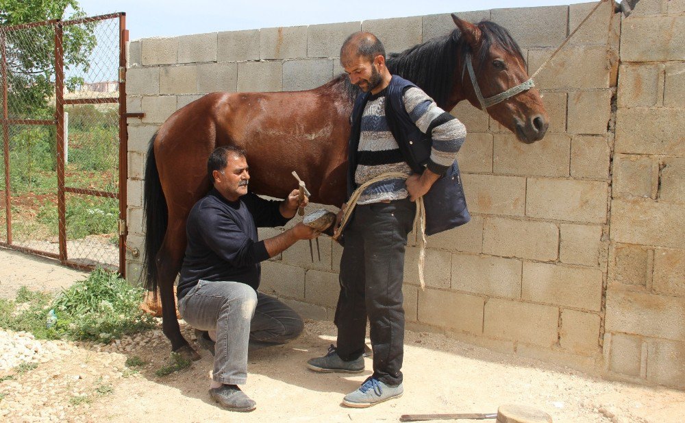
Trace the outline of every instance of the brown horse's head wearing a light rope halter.
{"label": "brown horse's head wearing a light rope halter", "polygon": [[[549,119],[543,100],[525,70],[521,49],[509,32],[496,23],[474,25],[452,14],[461,32],[463,67],[456,77],[473,106],[516,134],[523,143],[545,136]],[[471,69],[469,69],[471,66]]]}

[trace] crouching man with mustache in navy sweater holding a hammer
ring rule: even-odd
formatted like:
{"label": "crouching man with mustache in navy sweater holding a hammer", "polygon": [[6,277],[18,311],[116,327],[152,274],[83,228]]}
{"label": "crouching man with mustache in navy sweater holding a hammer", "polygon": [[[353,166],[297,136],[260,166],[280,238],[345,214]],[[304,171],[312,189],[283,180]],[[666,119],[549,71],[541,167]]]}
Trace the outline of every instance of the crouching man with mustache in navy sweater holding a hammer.
{"label": "crouching man with mustache in navy sweater holding a hammer", "polygon": [[214,149],[207,171],[214,188],[188,215],[178,310],[196,330],[208,331],[198,340],[214,354],[210,396],[229,410],[251,411],[256,403],[238,387],[247,378],[248,343],[251,349],[286,343],[303,329],[295,311],[257,291],[260,262],[319,233],[297,223],[259,241],[258,227],[283,226],[295,216],[299,191],[282,202],[249,193],[245,152],[231,145]]}

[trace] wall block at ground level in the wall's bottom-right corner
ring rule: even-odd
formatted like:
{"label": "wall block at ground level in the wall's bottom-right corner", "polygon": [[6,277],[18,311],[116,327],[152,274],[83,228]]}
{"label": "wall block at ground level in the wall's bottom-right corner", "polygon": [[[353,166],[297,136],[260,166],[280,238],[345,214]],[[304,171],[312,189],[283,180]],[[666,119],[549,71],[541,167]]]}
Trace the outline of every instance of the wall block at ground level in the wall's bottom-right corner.
{"label": "wall block at ground level in the wall's bottom-right corner", "polygon": [[685,342],[650,339],[647,343],[647,380],[685,388]]}

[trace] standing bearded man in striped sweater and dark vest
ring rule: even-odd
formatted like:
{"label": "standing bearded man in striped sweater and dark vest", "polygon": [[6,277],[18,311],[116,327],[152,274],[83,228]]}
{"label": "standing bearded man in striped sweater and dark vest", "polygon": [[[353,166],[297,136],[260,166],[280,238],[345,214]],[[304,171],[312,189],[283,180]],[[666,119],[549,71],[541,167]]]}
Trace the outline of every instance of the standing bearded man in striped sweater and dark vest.
{"label": "standing bearded man in striped sweater and dark vest", "polygon": [[318,372],[363,372],[368,316],[373,374],[347,394],[343,404],[370,407],[402,395],[404,252],[415,201],[453,165],[466,130],[423,90],[390,75],[385,49],[373,34],[349,36],[340,49],[340,62],[350,82],[364,92],[352,112],[348,198],[382,173],[401,172],[407,178],[374,182],[361,193],[343,232],[335,319],[338,346],[310,359],[308,367]]}

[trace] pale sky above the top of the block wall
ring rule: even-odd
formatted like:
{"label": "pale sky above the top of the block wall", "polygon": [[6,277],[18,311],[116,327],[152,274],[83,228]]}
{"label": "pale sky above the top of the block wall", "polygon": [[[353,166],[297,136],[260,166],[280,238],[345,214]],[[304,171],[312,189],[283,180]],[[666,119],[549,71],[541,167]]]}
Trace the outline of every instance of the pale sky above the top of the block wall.
{"label": "pale sky above the top of the block wall", "polygon": [[584,3],[588,0],[79,0],[88,16],[126,12],[129,40],[366,21],[469,10]]}

